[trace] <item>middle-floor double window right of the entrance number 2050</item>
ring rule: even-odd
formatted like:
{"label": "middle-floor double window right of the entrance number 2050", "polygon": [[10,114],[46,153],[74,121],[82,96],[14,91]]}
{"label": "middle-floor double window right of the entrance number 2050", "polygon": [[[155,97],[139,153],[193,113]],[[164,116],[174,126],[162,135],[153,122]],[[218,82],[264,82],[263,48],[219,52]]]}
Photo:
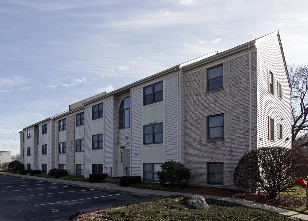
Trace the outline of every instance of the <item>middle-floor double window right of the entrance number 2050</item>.
{"label": "middle-floor double window right of the entrance number 2050", "polygon": [[163,142],[163,123],[144,126],[143,143],[154,144]]}

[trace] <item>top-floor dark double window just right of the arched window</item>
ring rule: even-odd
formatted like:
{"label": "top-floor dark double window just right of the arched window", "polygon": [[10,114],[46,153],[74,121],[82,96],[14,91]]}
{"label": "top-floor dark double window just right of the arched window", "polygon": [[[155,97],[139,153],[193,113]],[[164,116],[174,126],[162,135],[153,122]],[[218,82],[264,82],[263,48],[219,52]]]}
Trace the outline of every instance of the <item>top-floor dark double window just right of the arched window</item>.
{"label": "top-floor dark double window just right of the arched window", "polygon": [[152,104],[163,100],[163,82],[160,81],[156,84],[144,87],[144,105]]}

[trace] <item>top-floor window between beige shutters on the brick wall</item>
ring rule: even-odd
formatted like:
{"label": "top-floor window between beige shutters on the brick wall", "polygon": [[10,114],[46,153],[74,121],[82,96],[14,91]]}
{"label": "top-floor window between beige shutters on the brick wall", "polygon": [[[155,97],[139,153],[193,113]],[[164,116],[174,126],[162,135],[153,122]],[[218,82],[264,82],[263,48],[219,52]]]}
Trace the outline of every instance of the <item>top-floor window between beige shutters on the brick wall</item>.
{"label": "top-floor window between beige shutters on the brick wall", "polygon": [[208,69],[208,91],[224,86],[223,64]]}

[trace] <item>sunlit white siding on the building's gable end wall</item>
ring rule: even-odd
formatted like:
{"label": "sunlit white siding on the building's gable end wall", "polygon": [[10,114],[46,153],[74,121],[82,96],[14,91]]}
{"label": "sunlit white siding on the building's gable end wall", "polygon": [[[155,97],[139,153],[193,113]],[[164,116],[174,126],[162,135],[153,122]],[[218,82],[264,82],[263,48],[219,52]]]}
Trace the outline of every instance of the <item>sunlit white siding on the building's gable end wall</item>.
{"label": "sunlit white siding on the building's gable end wall", "polygon": [[[291,94],[289,81],[282,58],[282,51],[277,35],[272,35],[256,43],[257,46],[257,147],[281,146],[291,148],[291,142],[284,142],[291,137]],[[270,57],[269,57],[270,55]],[[277,94],[277,80],[284,89],[283,99],[269,92],[269,70],[274,74],[274,94]],[[286,91],[288,89],[288,92]],[[275,143],[269,140],[269,116],[283,126],[282,140]],[[281,120],[283,119],[283,120]],[[277,130],[277,124],[274,126]],[[276,131],[277,138],[277,131]]]}

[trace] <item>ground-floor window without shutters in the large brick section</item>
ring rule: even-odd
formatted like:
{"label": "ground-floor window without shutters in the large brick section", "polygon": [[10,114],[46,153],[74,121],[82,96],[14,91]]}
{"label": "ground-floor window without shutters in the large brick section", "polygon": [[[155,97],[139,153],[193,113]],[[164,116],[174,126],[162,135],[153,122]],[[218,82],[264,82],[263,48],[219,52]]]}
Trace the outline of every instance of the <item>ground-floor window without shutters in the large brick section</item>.
{"label": "ground-floor window without shutters in the large brick section", "polygon": [[224,184],[224,163],[208,163],[208,184]]}

